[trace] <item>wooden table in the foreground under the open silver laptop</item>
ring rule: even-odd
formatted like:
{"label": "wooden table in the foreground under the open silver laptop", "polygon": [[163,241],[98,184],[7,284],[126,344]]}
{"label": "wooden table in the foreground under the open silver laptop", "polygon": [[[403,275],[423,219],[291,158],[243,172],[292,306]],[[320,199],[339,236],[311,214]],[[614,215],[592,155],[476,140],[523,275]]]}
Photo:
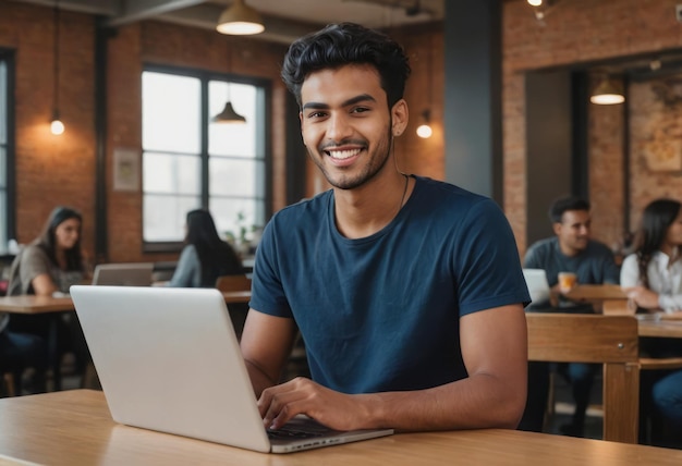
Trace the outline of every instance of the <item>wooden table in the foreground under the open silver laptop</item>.
{"label": "wooden table in the foreground under the open silver laptop", "polygon": [[255,453],[117,425],[102,393],[90,390],[2,398],[0,431],[4,458],[51,465],[682,464],[682,451],[678,450],[501,429],[403,433],[308,452]]}

